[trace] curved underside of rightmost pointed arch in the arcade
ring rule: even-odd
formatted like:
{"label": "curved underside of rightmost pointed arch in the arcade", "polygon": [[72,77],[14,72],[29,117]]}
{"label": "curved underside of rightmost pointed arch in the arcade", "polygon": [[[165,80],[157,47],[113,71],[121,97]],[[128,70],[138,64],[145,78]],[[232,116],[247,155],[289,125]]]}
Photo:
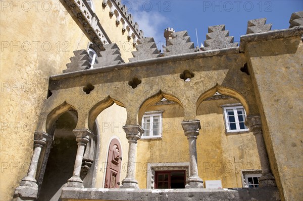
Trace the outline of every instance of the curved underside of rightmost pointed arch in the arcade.
{"label": "curved underside of rightmost pointed arch in the arcade", "polygon": [[237,99],[242,106],[244,107],[246,114],[249,114],[249,106],[248,103],[246,101],[246,99],[244,98],[244,96],[242,94],[240,94],[239,92],[237,92],[234,89],[228,88],[228,87],[224,87],[221,85],[216,85],[213,88],[207,90],[206,92],[204,92],[202,95],[200,95],[200,97],[198,98],[197,102],[196,102],[196,112],[198,110],[198,107],[200,106],[200,104],[206,99],[209,98],[211,96],[213,96],[216,92],[219,92],[220,94],[223,95],[227,95],[227,96],[231,96],[235,99]]}

